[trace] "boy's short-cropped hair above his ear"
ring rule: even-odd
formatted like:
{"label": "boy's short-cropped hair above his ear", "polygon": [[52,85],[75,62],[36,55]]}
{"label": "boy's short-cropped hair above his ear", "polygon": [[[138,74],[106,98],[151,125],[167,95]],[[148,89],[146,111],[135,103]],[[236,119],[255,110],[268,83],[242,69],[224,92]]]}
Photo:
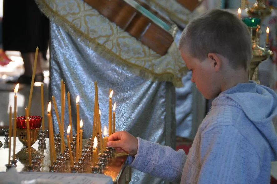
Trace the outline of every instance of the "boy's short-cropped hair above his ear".
{"label": "boy's short-cropped hair above his ear", "polygon": [[250,33],[233,13],[214,9],[192,20],[182,32],[179,49],[199,60],[208,53],[218,53],[229,59],[234,69],[248,69],[252,58]]}

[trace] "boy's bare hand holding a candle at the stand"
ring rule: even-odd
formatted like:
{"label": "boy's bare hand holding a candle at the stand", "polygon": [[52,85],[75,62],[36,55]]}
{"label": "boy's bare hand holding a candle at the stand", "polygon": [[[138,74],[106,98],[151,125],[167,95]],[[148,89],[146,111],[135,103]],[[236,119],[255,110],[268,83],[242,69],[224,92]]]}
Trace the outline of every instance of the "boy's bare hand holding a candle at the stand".
{"label": "boy's bare hand holding a candle at the stand", "polygon": [[114,147],[117,152],[126,152],[131,156],[137,153],[138,140],[126,131],[115,132],[108,137],[108,147]]}

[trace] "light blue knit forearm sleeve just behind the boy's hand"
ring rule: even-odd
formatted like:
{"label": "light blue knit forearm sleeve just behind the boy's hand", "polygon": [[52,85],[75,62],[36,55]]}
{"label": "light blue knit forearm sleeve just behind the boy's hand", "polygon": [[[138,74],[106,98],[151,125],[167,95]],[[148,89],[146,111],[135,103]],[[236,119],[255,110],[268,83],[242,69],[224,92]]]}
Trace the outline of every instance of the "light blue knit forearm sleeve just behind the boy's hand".
{"label": "light blue knit forearm sleeve just behind the boy's hand", "polygon": [[171,147],[149,142],[139,137],[137,139],[137,154],[133,160],[129,160],[132,161],[130,166],[171,182],[180,182],[186,159],[185,152],[183,150],[176,152]]}

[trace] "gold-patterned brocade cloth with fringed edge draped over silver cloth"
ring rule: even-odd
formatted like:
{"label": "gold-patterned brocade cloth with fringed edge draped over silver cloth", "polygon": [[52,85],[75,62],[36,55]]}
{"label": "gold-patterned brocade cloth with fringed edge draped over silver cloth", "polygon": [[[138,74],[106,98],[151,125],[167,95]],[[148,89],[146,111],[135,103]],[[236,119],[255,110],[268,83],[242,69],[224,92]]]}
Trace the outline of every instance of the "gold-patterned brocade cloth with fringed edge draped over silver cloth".
{"label": "gold-patterned brocade cloth with fringed edge draped over silver cloth", "polygon": [[187,72],[176,43],[160,56],[82,0],[36,0],[44,14],[102,57],[133,73],[181,87]]}

